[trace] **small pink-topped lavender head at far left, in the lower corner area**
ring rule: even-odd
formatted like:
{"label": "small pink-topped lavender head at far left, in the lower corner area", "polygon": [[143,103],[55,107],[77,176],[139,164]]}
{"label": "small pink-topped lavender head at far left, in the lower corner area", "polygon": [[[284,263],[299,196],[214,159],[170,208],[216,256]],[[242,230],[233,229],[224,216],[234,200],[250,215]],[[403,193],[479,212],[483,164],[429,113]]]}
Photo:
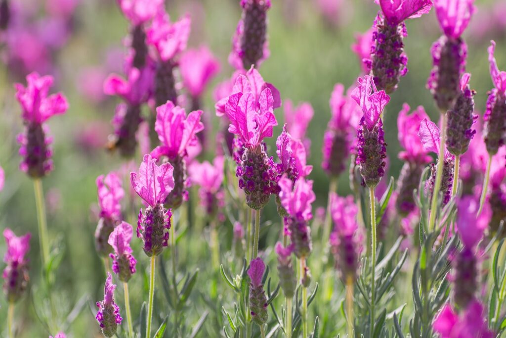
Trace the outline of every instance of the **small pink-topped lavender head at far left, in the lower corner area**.
{"label": "small pink-topped lavender head at far left, in the lower corner area", "polygon": [[7,243],[7,251],[4,262],[7,267],[2,273],[5,280],[4,293],[9,302],[17,302],[28,286],[28,259],[26,254],[30,250],[30,233],[17,237],[14,232],[6,228],[4,238]]}

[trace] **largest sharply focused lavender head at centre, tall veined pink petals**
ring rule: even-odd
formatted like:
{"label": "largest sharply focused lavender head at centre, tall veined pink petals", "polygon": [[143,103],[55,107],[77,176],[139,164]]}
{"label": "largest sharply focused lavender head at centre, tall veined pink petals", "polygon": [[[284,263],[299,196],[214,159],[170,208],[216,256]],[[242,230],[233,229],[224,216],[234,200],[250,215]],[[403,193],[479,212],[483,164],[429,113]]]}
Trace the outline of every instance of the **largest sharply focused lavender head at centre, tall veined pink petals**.
{"label": "largest sharply focused lavender head at centre, tall veined pink petals", "polygon": [[[258,72],[256,74],[260,75]],[[263,143],[265,137],[272,136],[273,127],[278,124],[274,116],[274,96],[267,87],[257,94],[257,102],[247,78],[239,76],[236,84],[238,83],[243,85],[244,91],[230,95],[225,105],[230,121],[228,130],[237,135],[244,149],[236,171],[239,187],[246,194],[246,204],[252,209],[260,210],[275,189],[272,182],[276,177],[273,160],[267,155]],[[260,88],[255,87],[257,89]]]}

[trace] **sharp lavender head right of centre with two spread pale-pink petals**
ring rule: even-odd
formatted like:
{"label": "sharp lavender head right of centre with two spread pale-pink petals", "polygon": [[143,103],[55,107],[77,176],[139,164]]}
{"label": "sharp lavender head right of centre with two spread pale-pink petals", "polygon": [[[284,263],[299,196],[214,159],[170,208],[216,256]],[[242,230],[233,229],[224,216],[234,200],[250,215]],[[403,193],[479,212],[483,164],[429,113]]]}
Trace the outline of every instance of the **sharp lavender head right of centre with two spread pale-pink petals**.
{"label": "sharp lavender head right of centre with two spread pale-pink petals", "polygon": [[383,132],[381,113],[390,102],[385,91],[378,91],[372,77],[358,79],[359,86],[352,92],[352,98],[360,105],[363,117],[358,130],[357,165],[364,184],[375,187],[385,175],[387,147]]}

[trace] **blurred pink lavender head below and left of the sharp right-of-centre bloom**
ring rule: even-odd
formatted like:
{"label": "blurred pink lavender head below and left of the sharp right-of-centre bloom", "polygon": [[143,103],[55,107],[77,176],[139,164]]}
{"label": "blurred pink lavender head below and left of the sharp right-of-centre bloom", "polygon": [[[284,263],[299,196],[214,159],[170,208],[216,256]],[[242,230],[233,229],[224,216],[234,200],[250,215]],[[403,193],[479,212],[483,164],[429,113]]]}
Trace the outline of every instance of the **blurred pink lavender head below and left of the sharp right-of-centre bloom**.
{"label": "blurred pink lavender head below and left of the sharp right-of-centre bloom", "polygon": [[334,221],[334,230],[330,234],[330,246],[335,256],[336,266],[345,283],[348,278],[356,280],[362,251],[357,212],[358,207],[352,196],[345,198],[335,193],[330,195],[330,213]]}

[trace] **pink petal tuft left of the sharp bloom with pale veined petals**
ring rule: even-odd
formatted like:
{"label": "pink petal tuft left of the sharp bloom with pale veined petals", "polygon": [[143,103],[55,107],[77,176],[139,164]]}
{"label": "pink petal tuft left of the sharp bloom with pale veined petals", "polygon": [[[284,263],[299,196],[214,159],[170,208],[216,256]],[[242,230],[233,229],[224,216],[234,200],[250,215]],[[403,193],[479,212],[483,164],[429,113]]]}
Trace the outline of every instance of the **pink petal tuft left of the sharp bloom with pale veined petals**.
{"label": "pink petal tuft left of the sharp bloom with pale veined petals", "polygon": [[96,180],[98,189],[98,204],[100,206],[100,217],[110,219],[121,219],[121,199],[124,196],[121,187],[121,178],[111,172],[104,177],[100,175]]}

